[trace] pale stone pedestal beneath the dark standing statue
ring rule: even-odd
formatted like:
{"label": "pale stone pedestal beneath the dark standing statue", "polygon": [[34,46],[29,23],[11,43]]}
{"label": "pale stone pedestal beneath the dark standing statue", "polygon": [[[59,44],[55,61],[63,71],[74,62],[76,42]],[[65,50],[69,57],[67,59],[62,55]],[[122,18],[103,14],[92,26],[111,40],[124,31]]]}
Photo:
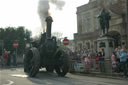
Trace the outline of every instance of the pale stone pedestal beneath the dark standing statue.
{"label": "pale stone pedestal beneath the dark standing statue", "polygon": [[108,36],[104,36],[97,39],[97,47],[99,49],[104,49],[105,51],[105,72],[110,73],[112,72],[112,62],[111,56],[114,51],[114,39]]}

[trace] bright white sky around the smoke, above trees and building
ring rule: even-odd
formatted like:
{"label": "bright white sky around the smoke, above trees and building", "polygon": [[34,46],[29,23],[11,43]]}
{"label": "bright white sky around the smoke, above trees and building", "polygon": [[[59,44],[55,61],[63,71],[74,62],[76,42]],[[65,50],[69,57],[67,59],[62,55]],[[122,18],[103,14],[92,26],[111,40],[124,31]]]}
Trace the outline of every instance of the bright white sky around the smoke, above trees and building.
{"label": "bright white sky around the smoke, above trees and building", "polygon": [[[76,7],[88,3],[89,0],[63,0],[62,10],[50,4],[53,18],[52,32],[60,32],[62,37],[73,39],[77,32]],[[39,0],[0,0],[0,27],[24,26],[32,31],[32,36],[39,35],[43,28],[38,14]]]}

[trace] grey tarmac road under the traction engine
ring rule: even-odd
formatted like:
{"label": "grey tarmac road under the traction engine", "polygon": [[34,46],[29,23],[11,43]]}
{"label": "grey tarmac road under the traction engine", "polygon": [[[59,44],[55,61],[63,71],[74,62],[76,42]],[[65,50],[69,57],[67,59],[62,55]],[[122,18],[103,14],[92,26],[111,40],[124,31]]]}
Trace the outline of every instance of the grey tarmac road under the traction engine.
{"label": "grey tarmac road under the traction engine", "polygon": [[0,68],[0,85],[128,85],[128,80],[88,77],[68,73],[58,77],[56,73],[41,71],[36,78],[28,77],[23,68]]}

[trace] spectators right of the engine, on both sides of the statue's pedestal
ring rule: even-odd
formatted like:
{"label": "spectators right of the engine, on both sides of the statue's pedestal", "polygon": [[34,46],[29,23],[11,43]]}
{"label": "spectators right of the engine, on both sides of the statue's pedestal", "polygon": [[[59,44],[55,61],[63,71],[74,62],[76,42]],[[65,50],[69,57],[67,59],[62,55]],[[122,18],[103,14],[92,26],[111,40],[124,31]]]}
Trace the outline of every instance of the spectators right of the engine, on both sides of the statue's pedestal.
{"label": "spectators right of the engine, on both sides of the statue's pedestal", "polygon": [[[73,63],[83,63],[86,72],[90,72],[92,69],[95,71],[106,72],[104,58],[105,51],[103,48],[96,52],[92,52],[92,50],[89,49],[81,49],[75,52],[68,50],[68,54],[72,56],[72,60],[74,61]],[[124,76],[127,76],[128,49],[118,46],[118,48],[115,48],[110,58],[112,62],[112,72],[123,72]]]}

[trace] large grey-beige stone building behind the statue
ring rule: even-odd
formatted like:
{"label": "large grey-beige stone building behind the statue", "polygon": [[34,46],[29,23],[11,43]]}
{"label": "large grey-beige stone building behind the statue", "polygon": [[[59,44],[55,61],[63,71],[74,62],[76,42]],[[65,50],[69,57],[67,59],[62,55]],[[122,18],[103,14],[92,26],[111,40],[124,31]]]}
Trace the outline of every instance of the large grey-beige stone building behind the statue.
{"label": "large grey-beige stone building behind the statue", "polygon": [[127,0],[90,0],[88,4],[77,7],[75,49],[97,50],[97,39],[101,36],[98,16],[103,8],[111,16],[108,34],[114,38],[115,47],[122,44],[128,47],[127,7]]}

